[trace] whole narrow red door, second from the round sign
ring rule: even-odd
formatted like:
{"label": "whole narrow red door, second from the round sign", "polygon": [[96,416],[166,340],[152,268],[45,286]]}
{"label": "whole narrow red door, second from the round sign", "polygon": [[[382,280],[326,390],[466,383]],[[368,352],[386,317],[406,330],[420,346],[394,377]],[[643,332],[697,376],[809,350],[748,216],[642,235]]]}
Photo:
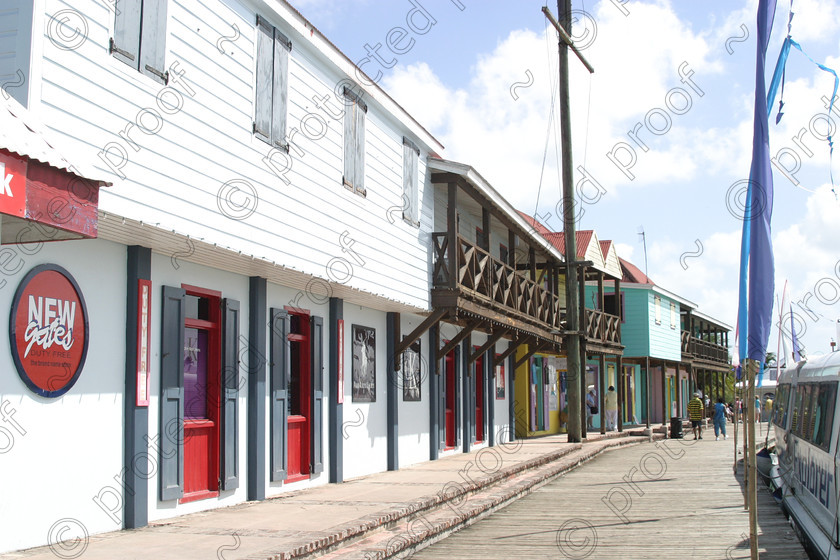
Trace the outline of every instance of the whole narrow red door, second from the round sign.
{"label": "whole narrow red door, second from the round sign", "polygon": [[291,376],[289,379],[289,463],[286,482],[309,478],[310,402],[310,344],[309,314],[289,309],[291,327],[289,350]]}

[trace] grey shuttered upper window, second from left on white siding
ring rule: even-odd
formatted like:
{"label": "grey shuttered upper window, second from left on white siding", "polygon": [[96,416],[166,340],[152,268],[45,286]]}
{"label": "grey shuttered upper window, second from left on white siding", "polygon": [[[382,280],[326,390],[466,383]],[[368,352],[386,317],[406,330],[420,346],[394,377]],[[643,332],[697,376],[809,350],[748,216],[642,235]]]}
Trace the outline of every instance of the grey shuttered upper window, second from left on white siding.
{"label": "grey shuttered upper window, second from left on white siding", "polygon": [[292,43],[276,27],[257,16],[257,67],[254,136],[286,151],[289,51]]}

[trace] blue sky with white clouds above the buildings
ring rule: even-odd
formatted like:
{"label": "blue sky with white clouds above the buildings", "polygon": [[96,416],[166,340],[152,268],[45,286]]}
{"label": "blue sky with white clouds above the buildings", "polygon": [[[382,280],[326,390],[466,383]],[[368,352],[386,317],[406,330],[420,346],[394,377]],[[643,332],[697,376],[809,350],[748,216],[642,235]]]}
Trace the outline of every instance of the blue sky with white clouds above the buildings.
{"label": "blue sky with white clouds above the buildings", "polygon": [[[443,157],[472,165],[517,208],[562,230],[557,35],[541,12],[545,2],[291,1],[353,61],[370,58],[364,70],[441,141]],[[556,2],[548,5],[556,14]],[[642,270],[646,246],[656,284],[733,327],[757,5],[572,3],[572,36],[595,68],[590,75],[570,54],[578,228],[613,240]],[[790,10],[778,2],[768,83]],[[797,0],[793,12],[793,39],[840,69],[840,0]],[[781,299],[787,286],[785,333],[792,302],[809,355],[831,351],[840,332],[840,185],[832,188],[830,174],[833,162],[840,181],[840,155],[829,158],[826,138],[840,108],[830,118],[822,99],[833,88],[834,76],[792,51],[783,117],[776,124],[777,99],[770,120],[776,294]],[[768,351],[776,352],[777,339],[774,328]]]}

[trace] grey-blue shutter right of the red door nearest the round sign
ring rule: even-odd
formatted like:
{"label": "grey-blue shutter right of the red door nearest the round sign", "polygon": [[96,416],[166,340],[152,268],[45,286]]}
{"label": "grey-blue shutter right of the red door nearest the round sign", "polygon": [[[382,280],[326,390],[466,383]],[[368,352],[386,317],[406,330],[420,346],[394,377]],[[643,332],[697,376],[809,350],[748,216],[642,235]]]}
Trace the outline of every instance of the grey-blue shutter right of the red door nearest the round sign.
{"label": "grey-blue shutter right of the red door nearest the round sign", "polygon": [[222,490],[239,488],[239,302],[222,300]]}

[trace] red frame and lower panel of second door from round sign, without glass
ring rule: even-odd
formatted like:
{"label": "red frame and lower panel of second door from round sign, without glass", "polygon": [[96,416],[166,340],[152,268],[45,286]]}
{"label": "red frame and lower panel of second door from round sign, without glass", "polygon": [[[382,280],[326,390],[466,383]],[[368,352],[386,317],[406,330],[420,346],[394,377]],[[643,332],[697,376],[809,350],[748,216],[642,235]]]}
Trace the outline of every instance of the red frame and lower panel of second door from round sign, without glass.
{"label": "red frame and lower panel of second door from round sign, without glass", "polygon": [[[292,473],[289,471],[286,477],[286,483],[298,482],[300,480],[308,480],[310,478],[310,449],[309,436],[312,427],[312,356],[311,354],[311,337],[310,337],[310,312],[306,309],[299,309],[296,307],[286,307],[286,311],[290,316],[298,317],[299,332],[289,333],[288,340],[290,343],[297,343],[299,346],[299,363],[298,371],[292,371],[291,375],[299,375],[300,382],[298,383],[298,395],[296,395],[298,402],[300,402],[300,414],[292,415],[291,411],[287,417],[288,433],[286,434],[286,441],[288,446],[289,466],[294,464],[292,454],[297,453],[297,464],[300,465],[299,473]],[[290,388],[291,389],[291,388]],[[291,395],[290,395],[290,398]],[[292,445],[292,432],[297,431],[300,436],[300,444]]]}

